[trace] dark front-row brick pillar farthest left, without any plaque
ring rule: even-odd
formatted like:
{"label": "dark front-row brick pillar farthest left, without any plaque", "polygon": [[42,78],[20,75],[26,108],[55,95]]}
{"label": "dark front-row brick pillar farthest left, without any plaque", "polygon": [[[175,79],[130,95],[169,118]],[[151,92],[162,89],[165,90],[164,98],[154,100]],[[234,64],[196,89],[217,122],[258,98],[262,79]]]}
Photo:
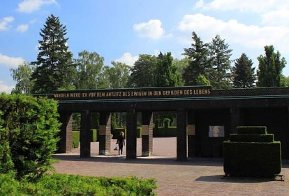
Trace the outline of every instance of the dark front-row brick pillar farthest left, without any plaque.
{"label": "dark front-row brick pillar farthest left, without any plaque", "polygon": [[81,111],[80,157],[90,157],[90,112],[88,110]]}

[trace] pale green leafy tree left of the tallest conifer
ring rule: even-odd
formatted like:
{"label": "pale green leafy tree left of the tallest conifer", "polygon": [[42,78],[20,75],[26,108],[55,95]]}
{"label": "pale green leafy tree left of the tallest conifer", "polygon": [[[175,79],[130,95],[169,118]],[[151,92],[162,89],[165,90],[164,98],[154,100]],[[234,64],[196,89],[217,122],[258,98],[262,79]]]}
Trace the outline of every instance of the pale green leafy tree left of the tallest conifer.
{"label": "pale green leafy tree left of the tallest conifer", "polygon": [[17,84],[13,88],[13,93],[29,94],[34,85],[34,81],[30,80],[34,67],[30,66],[27,61],[19,64],[18,68],[10,69],[11,76]]}

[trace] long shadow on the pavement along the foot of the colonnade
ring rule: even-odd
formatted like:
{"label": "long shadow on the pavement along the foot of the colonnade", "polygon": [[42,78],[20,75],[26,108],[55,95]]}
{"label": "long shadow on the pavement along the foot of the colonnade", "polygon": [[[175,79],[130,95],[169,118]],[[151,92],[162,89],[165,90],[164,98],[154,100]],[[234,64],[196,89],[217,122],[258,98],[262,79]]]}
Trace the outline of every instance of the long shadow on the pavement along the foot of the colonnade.
{"label": "long shadow on the pavement along the foot of the colonnade", "polygon": [[91,161],[91,162],[116,162],[125,164],[156,164],[156,165],[184,165],[184,166],[223,166],[222,158],[188,158],[186,161],[177,161],[176,157],[137,157],[136,159],[126,159],[125,156],[99,156],[93,155],[90,158],[80,158],[79,155],[61,154],[53,155],[59,160],[68,161]]}

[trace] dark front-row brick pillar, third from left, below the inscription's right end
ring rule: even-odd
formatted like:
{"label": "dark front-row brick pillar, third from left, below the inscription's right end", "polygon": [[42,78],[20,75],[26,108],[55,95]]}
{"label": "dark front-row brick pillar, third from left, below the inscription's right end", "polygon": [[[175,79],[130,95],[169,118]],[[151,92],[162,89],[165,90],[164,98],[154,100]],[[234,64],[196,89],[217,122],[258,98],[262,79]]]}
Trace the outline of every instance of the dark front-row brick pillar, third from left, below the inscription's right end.
{"label": "dark front-row brick pillar, third from left, below the inscription's right end", "polygon": [[178,109],[176,112],[176,159],[187,160],[187,111]]}

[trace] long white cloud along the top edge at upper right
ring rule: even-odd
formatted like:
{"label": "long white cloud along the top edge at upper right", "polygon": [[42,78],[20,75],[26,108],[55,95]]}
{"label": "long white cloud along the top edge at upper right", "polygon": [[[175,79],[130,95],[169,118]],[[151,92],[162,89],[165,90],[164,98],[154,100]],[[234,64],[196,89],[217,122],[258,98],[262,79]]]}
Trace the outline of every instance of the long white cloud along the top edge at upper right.
{"label": "long white cloud along the top edge at upper right", "polygon": [[255,12],[261,13],[275,9],[289,8],[289,1],[287,0],[213,0],[205,3],[203,0],[195,4],[195,8],[204,10],[239,10],[241,12]]}

